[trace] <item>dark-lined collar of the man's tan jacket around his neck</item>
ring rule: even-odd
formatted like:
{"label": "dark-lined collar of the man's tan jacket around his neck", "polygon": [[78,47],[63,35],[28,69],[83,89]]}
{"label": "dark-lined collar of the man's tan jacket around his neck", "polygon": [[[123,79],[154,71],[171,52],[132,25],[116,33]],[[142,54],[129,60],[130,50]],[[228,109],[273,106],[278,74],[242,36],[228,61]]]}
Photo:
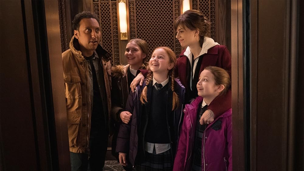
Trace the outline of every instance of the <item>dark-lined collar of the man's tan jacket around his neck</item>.
{"label": "dark-lined collar of the man's tan jacket around his neck", "polygon": [[[70,41],[70,49],[72,51],[72,53],[74,53],[78,58],[78,60],[80,61],[84,61],[84,57],[82,56],[82,53],[79,48],[79,43],[78,43],[78,39],[75,38],[75,36],[72,37],[71,41]],[[108,62],[109,60],[111,60],[111,54],[106,51],[100,44],[98,44],[96,50],[94,50],[94,54],[95,57],[99,57],[99,58],[103,58],[106,62]]]}

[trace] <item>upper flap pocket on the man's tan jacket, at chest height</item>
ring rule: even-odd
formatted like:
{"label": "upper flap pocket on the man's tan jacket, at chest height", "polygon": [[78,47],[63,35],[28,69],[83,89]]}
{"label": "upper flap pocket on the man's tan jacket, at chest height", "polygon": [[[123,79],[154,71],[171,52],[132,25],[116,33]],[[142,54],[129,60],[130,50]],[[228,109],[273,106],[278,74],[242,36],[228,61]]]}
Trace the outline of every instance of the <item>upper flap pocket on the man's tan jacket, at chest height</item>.
{"label": "upper flap pocket on the man's tan jacket, at chest height", "polygon": [[78,75],[64,75],[65,98],[81,98],[80,77]]}

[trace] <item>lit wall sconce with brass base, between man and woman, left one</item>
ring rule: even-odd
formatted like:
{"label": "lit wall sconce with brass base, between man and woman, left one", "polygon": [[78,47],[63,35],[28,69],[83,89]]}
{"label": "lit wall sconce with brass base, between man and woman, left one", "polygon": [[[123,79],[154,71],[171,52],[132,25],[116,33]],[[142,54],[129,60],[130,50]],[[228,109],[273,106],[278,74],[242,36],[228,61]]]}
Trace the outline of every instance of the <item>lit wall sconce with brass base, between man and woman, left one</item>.
{"label": "lit wall sconce with brass base, between man and woman, left one", "polygon": [[119,11],[119,28],[120,28],[120,39],[128,40],[128,25],[127,25],[127,10],[126,3],[121,0],[118,3]]}

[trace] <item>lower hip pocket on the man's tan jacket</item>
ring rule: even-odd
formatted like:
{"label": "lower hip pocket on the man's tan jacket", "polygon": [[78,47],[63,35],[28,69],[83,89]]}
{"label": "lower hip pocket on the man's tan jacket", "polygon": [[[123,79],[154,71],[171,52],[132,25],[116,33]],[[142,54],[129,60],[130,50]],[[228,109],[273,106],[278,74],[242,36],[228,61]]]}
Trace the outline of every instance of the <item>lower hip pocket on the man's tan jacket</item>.
{"label": "lower hip pocket on the man's tan jacket", "polygon": [[77,143],[78,129],[81,122],[81,115],[67,114],[67,129],[69,134],[69,145],[74,147]]}

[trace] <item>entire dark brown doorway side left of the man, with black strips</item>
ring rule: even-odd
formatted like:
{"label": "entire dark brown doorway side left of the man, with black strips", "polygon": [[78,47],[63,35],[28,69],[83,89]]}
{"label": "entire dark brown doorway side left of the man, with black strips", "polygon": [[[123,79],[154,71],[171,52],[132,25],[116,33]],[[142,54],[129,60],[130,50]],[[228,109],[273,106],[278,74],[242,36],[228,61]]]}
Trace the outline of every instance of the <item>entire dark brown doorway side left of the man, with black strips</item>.
{"label": "entire dark brown doorway side left of the man, with black strips", "polygon": [[0,170],[71,170],[58,2],[0,6]]}

